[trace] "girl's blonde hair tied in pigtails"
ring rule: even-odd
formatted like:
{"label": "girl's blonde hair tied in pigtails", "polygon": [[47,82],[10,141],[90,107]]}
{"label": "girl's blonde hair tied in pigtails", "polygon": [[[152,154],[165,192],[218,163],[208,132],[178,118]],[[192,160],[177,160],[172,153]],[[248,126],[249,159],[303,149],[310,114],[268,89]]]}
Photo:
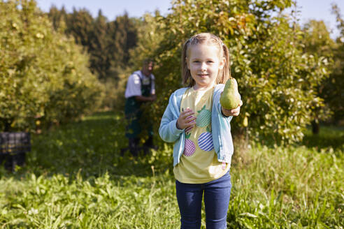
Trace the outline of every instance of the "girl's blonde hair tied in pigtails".
{"label": "girl's blonde hair tied in pigtails", "polygon": [[194,79],[192,79],[191,73],[187,68],[187,51],[191,45],[203,44],[215,45],[219,50],[219,57],[224,57],[224,67],[219,69],[217,73],[217,78],[215,84],[224,84],[229,78],[231,78],[231,63],[229,50],[222,40],[210,33],[196,34],[189,38],[182,46],[182,83],[186,84],[188,87],[192,87],[195,84]]}

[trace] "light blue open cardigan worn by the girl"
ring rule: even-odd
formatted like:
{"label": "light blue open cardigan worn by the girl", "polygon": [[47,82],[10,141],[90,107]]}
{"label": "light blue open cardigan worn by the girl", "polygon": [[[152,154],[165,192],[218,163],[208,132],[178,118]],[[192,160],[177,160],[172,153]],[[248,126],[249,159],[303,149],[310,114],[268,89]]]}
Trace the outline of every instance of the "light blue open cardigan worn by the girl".
{"label": "light blue open cardigan worn by the girl", "polygon": [[[178,129],[175,124],[180,115],[180,101],[182,95],[188,87],[178,89],[171,94],[169,104],[162,116],[159,135],[165,142],[174,142],[173,166],[180,161],[180,156],[184,152],[185,131]],[[217,84],[213,94],[213,108],[211,112],[211,129],[213,135],[213,145],[217,154],[217,160],[231,165],[231,156],[234,152],[233,140],[231,138],[232,116],[224,117],[221,112],[220,95],[224,89],[224,84]]]}

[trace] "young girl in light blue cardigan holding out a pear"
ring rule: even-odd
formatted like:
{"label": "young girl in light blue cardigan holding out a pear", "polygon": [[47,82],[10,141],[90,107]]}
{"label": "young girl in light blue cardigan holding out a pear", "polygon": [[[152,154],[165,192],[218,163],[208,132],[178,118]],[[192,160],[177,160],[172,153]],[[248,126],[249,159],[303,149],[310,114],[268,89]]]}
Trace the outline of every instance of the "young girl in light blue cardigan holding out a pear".
{"label": "young girl in light blue cardigan holding out a pear", "polygon": [[174,142],[173,173],[181,228],[201,228],[204,194],[206,228],[227,228],[233,154],[230,121],[240,106],[220,105],[229,79],[229,50],[213,34],[192,36],[182,47],[182,81],[173,92],[159,128],[162,140]]}

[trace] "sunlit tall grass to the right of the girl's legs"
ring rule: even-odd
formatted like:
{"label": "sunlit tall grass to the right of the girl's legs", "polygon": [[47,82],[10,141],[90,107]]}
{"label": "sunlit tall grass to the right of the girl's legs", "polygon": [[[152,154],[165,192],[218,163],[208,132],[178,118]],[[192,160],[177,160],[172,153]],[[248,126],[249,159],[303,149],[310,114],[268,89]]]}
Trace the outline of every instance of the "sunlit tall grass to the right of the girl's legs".
{"label": "sunlit tall grass to the right of the girl's legs", "polygon": [[255,145],[248,157],[232,170],[232,228],[343,228],[343,156]]}

